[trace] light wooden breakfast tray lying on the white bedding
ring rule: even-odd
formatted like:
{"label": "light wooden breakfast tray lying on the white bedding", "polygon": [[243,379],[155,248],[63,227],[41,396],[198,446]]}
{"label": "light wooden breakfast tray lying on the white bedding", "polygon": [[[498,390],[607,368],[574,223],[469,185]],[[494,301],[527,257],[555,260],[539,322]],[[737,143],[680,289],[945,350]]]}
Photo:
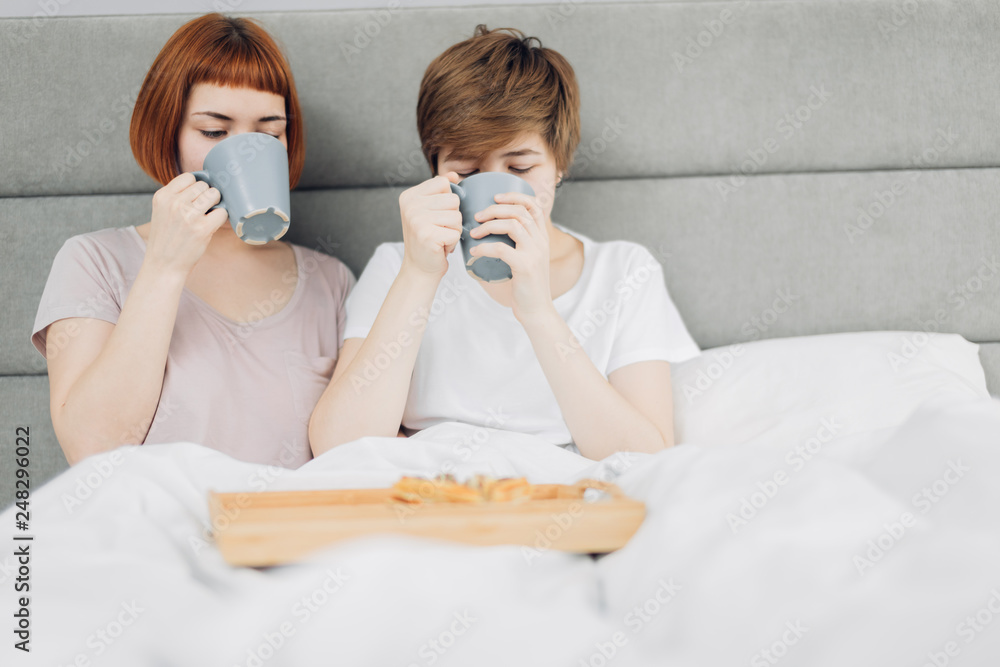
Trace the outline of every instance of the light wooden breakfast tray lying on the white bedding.
{"label": "light wooden breakfast tray lying on the white bedding", "polygon": [[646,514],[643,503],[598,480],[537,484],[530,498],[476,504],[412,505],[393,500],[391,491],[210,491],[209,507],[222,556],[254,567],[298,560],[338,540],[375,533],[606,553],[624,546]]}

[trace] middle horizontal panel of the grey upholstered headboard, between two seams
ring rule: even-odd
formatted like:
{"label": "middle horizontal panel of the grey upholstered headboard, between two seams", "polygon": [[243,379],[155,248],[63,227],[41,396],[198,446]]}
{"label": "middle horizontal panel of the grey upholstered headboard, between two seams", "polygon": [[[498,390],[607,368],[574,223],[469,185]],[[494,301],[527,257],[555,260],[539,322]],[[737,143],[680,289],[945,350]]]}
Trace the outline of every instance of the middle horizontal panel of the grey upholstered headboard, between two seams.
{"label": "middle horizontal panel of the grey upholstered headboard, between two seams", "polygon": [[[553,219],[597,240],[648,247],[703,348],[934,328],[1000,340],[1000,169],[767,175],[724,198],[727,181],[568,183]],[[399,192],[296,192],[288,238],[360,275],[379,243],[402,240]],[[868,223],[862,211],[878,211],[880,197],[894,200]],[[0,242],[19,249],[0,269],[17,288],[15,315],[0,321],[0,374],[44,372],[28,336],[63,240],[144,222],[149,205],[145,194],[0,198]]]}

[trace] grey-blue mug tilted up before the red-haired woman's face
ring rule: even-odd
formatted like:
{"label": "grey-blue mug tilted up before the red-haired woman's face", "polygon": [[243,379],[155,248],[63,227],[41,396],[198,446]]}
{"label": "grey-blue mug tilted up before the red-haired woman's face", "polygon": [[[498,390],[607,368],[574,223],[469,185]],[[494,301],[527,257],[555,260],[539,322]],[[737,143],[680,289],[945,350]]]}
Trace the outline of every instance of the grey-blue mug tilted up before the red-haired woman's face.
{"label": "grey-blue mug tilted up before the red-haired woman's face", "polygon": [[251,245],[280,239],[288,231],[288,151],[270,134],[245,132],[223,139],[205,156],[194,177],[222,194],[236,235]]}

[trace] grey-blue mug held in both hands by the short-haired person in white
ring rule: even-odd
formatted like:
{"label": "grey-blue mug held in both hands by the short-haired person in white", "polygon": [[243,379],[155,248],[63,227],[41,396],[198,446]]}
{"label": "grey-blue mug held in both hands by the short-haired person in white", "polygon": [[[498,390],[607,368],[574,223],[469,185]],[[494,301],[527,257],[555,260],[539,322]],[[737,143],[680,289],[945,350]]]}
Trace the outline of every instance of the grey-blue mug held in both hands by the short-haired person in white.
{"label": "grey-blue mug held in both hands by the short-haired person in white", "polygon": [[[462,257],[466,270],[486,282],[508,280],[512,274],[507,262],[496,257],[473,257],[469,251],[480,243],[506,243],[513,248],[514,240],[506,234],[487,234],[476,239],[469,236],[469,232],[481,224],[476,220],[476,213],[495,204],[493,198],[497,195],[520,192],[534,197],[535,191],[524,179],[502,171],[473,174],[458,185],[452,183],[451,191],[461,200],[458,210],[462,213]],[[472,260],[475,261],[470,265]]]}

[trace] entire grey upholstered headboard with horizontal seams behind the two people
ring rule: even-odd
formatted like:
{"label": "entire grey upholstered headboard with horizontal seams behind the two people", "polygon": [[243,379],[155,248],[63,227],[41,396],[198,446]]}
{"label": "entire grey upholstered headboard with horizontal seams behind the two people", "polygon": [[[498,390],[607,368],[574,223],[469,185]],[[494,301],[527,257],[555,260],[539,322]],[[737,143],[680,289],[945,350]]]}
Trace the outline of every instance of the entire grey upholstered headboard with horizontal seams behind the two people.
{"label": "entire grey upholstered headboard with horizontal seams behind the two people", "polygon": [[[0,21],[0,503],[16,426],[31,428],[36,484],[66,465],[28,342],[35,309],[66,238],[148,219],[155,186],[129,151],[129,114],[188,18]],[[398,192],[427,175],[414,119],[424,67],[477,23],[518,27],[566,55],[582,89],[583,144],[554,218],[653,250],[703,347],[940,327],[983,344],[1000,393],[994,0],[257,18],[284,43],[305,108],[290,238],[355,273],[400,238]]]}

